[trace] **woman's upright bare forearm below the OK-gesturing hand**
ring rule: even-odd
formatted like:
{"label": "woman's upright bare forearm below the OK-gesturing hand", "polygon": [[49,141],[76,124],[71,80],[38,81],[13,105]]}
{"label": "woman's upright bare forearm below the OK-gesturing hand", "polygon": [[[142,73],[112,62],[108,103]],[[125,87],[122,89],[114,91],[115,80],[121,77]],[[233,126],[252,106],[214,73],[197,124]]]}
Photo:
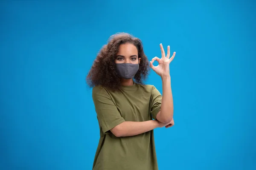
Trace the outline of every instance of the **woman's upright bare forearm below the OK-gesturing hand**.
{"label": "woman's upright bare forearm below the OK-gesturing hand", "polygon": [[171,122],[173,119],[173,99],[171,88],[171,77],[162,78],[163,95],[161,111],[157,114],[157,120],[163,123]]}

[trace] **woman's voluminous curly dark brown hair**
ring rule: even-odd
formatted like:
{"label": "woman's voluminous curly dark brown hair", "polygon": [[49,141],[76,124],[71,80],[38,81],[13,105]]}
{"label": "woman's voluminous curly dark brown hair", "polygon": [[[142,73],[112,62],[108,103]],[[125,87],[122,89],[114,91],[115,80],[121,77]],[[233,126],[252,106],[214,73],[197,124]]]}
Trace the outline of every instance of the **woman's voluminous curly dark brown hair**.
{"label": "woman's voluminous curly dark brown hair", "polygon": [[92,88],[101,85],[102,87],[109,88],[113,91],[121,89],[121,78],[116,72],[115,59],[119,50],[119,45],[125,43],[131,43],[137,47],[138,57],[141,58],[141,60],[139,70],[134,76],[134,81],[143,84],[150,69],[148,58],[144,54],[141,40],[128,33],[117,33],[109,38],[108,44],[102,47],[94,60],[86,77],[87,85],[89,85],[89,87]]}

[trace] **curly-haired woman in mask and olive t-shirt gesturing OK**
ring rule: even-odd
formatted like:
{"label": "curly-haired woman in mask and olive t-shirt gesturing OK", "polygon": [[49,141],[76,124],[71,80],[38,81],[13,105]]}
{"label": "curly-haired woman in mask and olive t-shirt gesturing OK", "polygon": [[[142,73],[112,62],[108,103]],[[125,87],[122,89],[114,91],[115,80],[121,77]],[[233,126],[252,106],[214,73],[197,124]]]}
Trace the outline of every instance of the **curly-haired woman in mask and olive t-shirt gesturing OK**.
{"label": "curly-haired woman in mask and olive t-shirt gesturing OK", "polygon": [[162,79],[163,96],[143,84],[149,63],[140,39],[115,34],[99,51],[87,75],[100,129],[93,170],[158,170],[153,129],[174,125],[169,64],[175,52],[170,58],[170,47],[167,55],[160,48],[162,57],[150,67]]}

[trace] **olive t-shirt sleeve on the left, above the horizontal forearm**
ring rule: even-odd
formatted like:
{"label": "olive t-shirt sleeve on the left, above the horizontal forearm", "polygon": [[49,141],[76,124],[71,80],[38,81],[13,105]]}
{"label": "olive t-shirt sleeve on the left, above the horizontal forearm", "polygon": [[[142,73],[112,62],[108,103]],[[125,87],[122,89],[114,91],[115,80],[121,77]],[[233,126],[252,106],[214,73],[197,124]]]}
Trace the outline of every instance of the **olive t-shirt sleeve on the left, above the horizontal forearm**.
{"label": "olive t-shirt sleeve on the left, above the horizontal forearm", "polygon": [[104,134],[110,133],[113,127],[125,122],[105,88],[94,87],[92,95],[99,124]]}

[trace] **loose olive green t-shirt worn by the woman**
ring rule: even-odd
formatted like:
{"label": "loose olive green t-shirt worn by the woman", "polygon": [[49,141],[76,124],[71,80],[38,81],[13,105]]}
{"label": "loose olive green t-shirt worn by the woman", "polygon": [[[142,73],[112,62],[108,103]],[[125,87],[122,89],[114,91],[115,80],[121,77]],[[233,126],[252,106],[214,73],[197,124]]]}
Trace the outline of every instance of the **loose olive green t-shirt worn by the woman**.
{"label": "loose olive green t-shirt worn by the woman", "polygon": [[156,119],[162,95],[153,85],[122,86],[122,91],[93,88],[100,139],[93,170],[158,170],[153,130],[116,137],[111,129],[125,121]]}

